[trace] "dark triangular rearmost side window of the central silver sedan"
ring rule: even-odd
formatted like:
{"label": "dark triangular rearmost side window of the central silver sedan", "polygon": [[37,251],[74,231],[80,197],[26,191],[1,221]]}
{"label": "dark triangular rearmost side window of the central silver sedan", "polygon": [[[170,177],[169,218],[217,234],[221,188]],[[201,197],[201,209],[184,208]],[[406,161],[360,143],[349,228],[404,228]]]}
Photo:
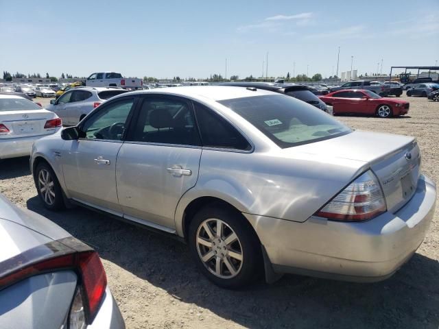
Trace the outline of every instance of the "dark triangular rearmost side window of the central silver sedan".
{"label": "dark triangular rearmost side window of the central silver sedan", "polygon": [[222,149],[251,149],[246,138],[218,114],[200,103],[194,103],[194,107],[203,146]]}

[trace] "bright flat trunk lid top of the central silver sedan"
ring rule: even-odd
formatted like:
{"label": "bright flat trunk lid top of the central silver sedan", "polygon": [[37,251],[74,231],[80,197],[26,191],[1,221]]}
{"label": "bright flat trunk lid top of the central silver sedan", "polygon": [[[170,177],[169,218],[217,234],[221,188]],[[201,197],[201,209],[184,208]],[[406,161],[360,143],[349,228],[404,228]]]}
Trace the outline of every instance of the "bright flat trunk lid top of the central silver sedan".
{"label": "bright flat trunk lid top of the central silver sedan", "polygon": [[414,138],[411,136],[356,130],[351,134],[331,138],[326,141],[283,149],[283,152],[313,154],[327,159],[357,160],[369,162],[372,165],[382,156],[392,154],[413,141]]}

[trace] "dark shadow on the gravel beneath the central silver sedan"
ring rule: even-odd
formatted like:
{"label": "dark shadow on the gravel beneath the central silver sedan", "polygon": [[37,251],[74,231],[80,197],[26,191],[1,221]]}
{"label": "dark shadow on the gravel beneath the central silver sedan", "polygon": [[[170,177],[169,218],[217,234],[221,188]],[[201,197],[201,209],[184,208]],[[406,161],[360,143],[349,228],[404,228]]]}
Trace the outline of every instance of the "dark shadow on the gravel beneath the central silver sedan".
{"label": "dark shadow on the gravel beneath the central silver sedan", "polygon": [[229,291],[206,280],[187,245],[175,239],[85,208],[50,212],[38,197],[27,200],[27,208],[97,249],[104,260],[167,291],[170,300],[206,308],[247,328],[437,329],[439,325],[439,263],[420,254],[383,282],[289,275],[271,285],[259,281],[245,290]]}

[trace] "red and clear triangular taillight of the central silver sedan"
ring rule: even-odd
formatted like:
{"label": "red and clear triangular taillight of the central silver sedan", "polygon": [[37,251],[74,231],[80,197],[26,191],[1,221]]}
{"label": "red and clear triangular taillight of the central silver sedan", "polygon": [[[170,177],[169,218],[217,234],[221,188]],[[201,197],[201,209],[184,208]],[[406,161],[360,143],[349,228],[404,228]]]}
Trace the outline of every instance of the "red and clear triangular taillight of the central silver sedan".
{"label": "red and clear triangular taillight of the central silver sedan", "polygon": [[316,216],[337,221],[366,221],[385,210],[383,191],[377,178],[369,170],[316,212]]}

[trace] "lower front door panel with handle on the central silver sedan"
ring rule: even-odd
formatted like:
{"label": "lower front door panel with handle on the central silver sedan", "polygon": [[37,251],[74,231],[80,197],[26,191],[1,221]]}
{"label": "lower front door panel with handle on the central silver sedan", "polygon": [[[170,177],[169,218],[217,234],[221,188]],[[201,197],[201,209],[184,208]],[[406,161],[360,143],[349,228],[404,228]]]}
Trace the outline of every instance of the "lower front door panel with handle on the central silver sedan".
{"label": "lower front door panel with handle on the central silver sedan", "polygon": [[121,142],[66,141],[62,167],[73,199],[121,212],[116,191],[116,158]]}

